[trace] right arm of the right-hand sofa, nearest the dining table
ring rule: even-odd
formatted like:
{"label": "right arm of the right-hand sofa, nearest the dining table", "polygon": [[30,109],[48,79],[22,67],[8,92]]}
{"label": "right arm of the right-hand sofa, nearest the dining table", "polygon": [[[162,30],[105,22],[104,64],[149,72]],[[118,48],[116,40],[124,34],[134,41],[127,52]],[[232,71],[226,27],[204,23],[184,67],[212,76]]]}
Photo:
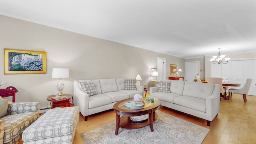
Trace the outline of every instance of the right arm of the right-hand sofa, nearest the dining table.
{"label": "right arm of the right-hand sofa, nearest the dining table", "polygon": [[206,120],[212,121],[220,111],[220,85],[214,84],[214,91],[206,98]]}

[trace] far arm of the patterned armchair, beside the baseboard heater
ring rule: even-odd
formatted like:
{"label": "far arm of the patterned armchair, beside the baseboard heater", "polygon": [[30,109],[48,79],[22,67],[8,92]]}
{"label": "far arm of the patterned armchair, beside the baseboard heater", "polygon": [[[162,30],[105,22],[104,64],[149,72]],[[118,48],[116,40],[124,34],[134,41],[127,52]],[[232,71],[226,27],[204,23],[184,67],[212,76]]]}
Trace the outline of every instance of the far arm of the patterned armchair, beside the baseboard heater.
{"label": "far arm of the patterned armchair, beside the baseboard heater", "polygon": [[39,109],[39,102],[14,102],[8,104],[7,115],[24,114],[27,112],[38,112],[39,114]]}

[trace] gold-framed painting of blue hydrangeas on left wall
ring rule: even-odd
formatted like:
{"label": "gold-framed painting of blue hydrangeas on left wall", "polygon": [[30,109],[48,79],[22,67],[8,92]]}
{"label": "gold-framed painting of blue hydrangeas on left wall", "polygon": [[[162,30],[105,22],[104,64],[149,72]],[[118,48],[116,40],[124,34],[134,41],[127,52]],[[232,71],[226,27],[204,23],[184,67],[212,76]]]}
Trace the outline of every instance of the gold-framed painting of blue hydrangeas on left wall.
{"label": "gold-framed painting of blue hydrangeas on left wall", "polygon": [[46,74],[46,52],[4,49],[4,74]]}

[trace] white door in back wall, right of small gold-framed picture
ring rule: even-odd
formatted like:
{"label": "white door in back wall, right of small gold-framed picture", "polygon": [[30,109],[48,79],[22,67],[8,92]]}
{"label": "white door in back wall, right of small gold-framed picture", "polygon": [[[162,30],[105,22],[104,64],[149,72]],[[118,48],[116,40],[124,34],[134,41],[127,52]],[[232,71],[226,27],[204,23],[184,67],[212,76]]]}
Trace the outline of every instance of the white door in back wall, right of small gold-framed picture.
{"label": "white door in back wall, right of small gold-framed picture", "polygon": [[185,62],[185,80],[193,82],[195,76],[200,76],[200,62]]}

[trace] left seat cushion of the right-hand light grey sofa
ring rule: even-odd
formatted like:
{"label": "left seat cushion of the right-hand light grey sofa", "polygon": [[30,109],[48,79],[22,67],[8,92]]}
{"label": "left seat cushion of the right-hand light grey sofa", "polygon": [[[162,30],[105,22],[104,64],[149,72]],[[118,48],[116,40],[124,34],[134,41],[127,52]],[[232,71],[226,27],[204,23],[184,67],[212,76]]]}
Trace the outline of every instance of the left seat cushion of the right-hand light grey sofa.
{"label": "left seat cushion of the right-hand light grey sofa", "polygon": [[154,92],[154,93],[150,94],[150,96],[152,96],[154,98],[158,98],[165,102],[174,103],[173,99],[177,96],[180,96],[180,94],[168,93],[168,92]]}

